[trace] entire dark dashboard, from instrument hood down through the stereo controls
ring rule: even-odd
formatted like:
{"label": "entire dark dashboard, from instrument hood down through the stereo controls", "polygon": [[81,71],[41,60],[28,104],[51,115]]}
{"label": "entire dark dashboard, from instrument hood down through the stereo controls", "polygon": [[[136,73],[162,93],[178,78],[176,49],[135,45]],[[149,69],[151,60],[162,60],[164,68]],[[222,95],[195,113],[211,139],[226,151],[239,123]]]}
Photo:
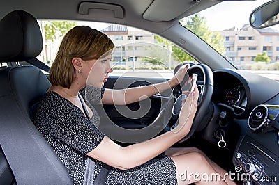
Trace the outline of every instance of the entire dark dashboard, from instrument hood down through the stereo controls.
{"label": "entire dark dashboard, from instrument hood down through the stereo controls", "polygon": [[253,177],[246,178],[247,184],[276,184],[275,180],[279,180],[278,81],[228,69],[213,72],[213,79],[212,103],[216,116],[209,123],[211,131],[206,131],[206,136],[211,138],[206,139],[219,145],[216,132],[221,134],[230,144],[227,147],[234,150],[236,172]]}

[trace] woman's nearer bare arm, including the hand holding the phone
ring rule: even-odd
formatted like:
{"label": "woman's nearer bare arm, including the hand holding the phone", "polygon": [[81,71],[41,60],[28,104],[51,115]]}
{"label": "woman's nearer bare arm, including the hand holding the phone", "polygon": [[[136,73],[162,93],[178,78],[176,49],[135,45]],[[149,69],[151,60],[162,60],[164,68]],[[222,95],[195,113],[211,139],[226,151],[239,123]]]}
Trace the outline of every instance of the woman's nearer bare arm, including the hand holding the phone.
{"label": "woman's nearer bare arm, including the hand holding the phone", "polygon": [[168,131],[165,134],[128,147],[121,147],[105,136],[102,142],[87,155],[121,170],[140,166],[158,156],[188,134],[197,111],[198,97],[199,92],[195,87],[194,95],[188,95],[181,108],[179,131]]}

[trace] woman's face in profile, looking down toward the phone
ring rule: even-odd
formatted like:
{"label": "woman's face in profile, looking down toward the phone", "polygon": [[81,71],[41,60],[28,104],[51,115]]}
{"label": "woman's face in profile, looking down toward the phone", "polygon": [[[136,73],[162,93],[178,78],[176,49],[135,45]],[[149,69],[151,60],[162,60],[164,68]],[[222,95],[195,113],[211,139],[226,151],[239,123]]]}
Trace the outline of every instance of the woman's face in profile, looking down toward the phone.
{"label": "woman's face in profile, looking down toward the phone", "polygon": [[102,88],[109,77],[109,73],[112,72],[112,68],[110,66],[111,60],[112,55],[108,55],[103,58],[99,58],[98,60],[93,59],[86,61],[86,70],[88,72],[86,72],[88,74],[86,85]]}

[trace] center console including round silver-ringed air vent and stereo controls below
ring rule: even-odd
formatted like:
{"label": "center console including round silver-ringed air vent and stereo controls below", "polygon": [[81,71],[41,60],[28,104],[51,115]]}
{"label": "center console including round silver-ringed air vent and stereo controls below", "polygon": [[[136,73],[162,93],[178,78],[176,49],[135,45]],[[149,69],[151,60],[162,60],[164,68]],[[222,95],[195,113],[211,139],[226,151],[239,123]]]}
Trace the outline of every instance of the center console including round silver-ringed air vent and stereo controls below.
{"label": "center console including round silver-ringed air vent and stereo controls below", "polygon": [[278,105],[259,105],[250,113],[250,136],[243,136],[233,160],[243,184],[279,182],[278,115]]}

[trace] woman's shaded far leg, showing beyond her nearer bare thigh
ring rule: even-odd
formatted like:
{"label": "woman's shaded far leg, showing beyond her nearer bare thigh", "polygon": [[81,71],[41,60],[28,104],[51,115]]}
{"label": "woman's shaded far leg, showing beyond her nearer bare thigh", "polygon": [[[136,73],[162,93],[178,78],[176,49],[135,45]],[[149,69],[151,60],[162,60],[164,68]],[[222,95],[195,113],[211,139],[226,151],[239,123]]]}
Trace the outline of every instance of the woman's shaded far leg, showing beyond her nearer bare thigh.
{"label": "woman's shaded far leg, showing beyond her nearer bare thigh", "polygon": [[179,156],[181,154],[188,154],[190,152],[197,152],[199,154],[202,154],[206,161],[212,166],[214,170],[216,170],[216,172],[218,172],[218,174],[220,174],[222,178],[224,178],[224,176],[226,175],[225,182],[227,182],[227,184],[236,184],[229,178],[228,173],[223,168],[211,161],[211,159],[209,159],[206,154],[202,152],[202,150],[199,150],[196,147],[169,148],[169,150],[167,150],[165,154],[167,154],[168,156]]}

